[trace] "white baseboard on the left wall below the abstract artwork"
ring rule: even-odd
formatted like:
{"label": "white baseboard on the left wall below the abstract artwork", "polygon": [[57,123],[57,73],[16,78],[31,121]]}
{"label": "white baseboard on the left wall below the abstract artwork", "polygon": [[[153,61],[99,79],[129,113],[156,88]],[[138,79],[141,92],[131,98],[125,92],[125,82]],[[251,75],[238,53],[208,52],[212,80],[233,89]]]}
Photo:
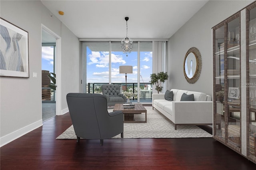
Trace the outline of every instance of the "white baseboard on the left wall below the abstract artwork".
{"label": "white baseboard on the left wall below the abstract artwork", "polygon": [[31,132],[32,130],[35,130],[38,127],[41,127],[42,125],[43,125],[43,121],[41,119],[40,121],[37,121],[26,127],[20,128],[14,132],[6,134],[5,136],[2,136],[0,138],[0,147],[12,142],[13,140],[23,136],[24,134],[27,134],[28,132]]}

